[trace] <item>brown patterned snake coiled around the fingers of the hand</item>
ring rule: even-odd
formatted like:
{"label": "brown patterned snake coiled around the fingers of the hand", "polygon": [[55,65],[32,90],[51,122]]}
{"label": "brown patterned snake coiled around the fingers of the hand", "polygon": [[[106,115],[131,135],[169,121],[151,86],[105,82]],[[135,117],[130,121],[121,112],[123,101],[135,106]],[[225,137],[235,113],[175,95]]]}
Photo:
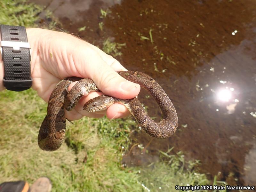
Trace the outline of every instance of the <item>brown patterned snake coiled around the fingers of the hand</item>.
{"label": "brown patterned snake coiled around the fingers of the hand", "polygon": [[[151,77],[138,71],[117,71],[117,74],[128,81],[139,84],[147,90],[157,102],[162,112],[162,120],[152,120],[140,101],[135,97],[132,99],[118,99],[101,95],[84,104],[88,112],[105,110],[113,103],[123,104],[134,116],[140,127],[154,138],[171,137],[178,127],[178,116],[168,95],[163,88]],[[78,81],[68,92],[68,86]],[[77,102],[91,91],[100,91],[96,84],[89,78],[67,77],[60,81],[53,89],[47,106],[47,115],[40,126],[38,133],[38,145],[46,151],[55,151],[60,148],[65,139],[66,116],[65,109],[72,110]]]}

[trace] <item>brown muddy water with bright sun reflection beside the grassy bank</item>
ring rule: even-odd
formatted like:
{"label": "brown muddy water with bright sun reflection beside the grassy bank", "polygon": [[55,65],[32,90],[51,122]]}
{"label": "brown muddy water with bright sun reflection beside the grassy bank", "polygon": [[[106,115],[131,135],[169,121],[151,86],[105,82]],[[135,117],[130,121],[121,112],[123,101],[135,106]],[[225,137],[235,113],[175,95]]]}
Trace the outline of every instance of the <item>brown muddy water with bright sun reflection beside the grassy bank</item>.
{"label": "brown muddy water with bright sun reflection beside the grassy bank", "polygon": [[[211,179],[220,172],[218,179],[230,185],[255,184],[256,1],[36,3],[53,11],[62,28],[92,44],[102,47],[108,37],[126,43],[116,58],[128,70],[155,78],[172,99],[179,117],[177,133],[165,140],[134,133],[134,142],[147,146],[149,154],[134,147],[124,164],[150,163],[157,160],[158,149],[174,146],[188,159],[199,159],[201,171]],[[101,18],[101,8],[111,13]],[[159,119],[160,110],[148,93],[142,91],[139,99]]]}

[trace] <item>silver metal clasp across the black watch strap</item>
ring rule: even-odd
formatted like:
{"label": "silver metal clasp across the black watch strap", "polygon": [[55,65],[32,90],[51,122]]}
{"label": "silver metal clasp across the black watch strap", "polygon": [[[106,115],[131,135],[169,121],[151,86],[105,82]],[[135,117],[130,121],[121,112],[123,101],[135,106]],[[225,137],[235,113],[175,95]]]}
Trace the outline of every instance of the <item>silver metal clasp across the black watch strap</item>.
{"label": "silver metal clasp across the black watch strap", "polygon": [[28,42],[0,41],[0,52],[1,52],[0,60],[1,61],[3,59],[2,47],[12,47],[13,48],[12,52],[14,53],[19,53],[20,48],[29,48],[30,60],[31,60],[31,49],[30,49],[30,44]]}

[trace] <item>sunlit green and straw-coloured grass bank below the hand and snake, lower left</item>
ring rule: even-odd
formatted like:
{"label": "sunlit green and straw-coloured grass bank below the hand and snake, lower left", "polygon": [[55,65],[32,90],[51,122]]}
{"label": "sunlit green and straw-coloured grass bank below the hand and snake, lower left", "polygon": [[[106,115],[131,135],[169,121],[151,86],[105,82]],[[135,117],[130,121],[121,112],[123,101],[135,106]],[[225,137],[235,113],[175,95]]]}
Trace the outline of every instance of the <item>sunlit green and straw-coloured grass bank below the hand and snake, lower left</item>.
{"label": "sunlit green and straw-coloured grass bank below the hand and snake, lower left", "polygon": [[122,146],[128,147],[134,121],[75,121],[68,125],[70,147],[64,143],[60,150],[49,153],[37,146],[46,103],[33,90],[3,91],[0,98],[1,104],[8,103],[0,109],[4,114],[0,117],[1,181],[22,179],[33,183],[45,175],[51,178],[53,191],[132,191],[134,184],[139,186],[136,172],[127,173],[129,170],[122,170],[120,165]]}

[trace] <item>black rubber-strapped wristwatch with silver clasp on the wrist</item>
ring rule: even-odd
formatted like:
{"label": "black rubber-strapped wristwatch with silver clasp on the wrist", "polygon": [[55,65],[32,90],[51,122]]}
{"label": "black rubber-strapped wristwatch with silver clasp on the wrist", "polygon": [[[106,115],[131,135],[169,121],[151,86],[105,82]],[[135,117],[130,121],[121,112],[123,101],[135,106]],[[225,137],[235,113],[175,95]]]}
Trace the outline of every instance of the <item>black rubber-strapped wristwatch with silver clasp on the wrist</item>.
{"label": "black rubber-strapped wristwatch with silver clasp on the wrist", "polygon": [[4,62],[4,87],[11,91],[24,91],[32,85],[31,49],[26,28],[0,25],[0,60]]}

